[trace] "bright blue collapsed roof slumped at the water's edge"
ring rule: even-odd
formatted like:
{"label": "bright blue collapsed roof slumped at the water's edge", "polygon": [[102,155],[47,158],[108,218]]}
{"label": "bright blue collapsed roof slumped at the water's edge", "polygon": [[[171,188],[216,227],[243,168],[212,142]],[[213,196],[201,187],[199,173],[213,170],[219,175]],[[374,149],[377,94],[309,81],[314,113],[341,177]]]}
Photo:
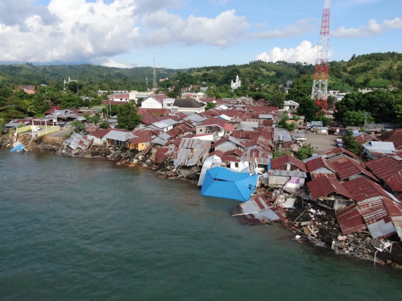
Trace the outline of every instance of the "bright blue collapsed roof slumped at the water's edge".
{"label": "bright blue collapsed roof slumped at the water's edge", "polygon": [[215,167],[207,171],[201,195],[246,202],[254,192],[257,180],[257,174],[250,176],[249,173]]}

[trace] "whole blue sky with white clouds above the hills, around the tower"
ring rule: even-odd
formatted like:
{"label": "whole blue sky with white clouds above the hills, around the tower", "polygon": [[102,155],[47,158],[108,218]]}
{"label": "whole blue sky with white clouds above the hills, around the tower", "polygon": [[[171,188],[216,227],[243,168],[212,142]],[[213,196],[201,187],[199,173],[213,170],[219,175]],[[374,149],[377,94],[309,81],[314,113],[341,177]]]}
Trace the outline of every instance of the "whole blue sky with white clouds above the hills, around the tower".
{"label": "whole blue sky with white clouds above the hills, around the tower", "polygon": [[[1,0],[0,63],[314,64],[323,9],[324,0]],[[330,61],[402,52],[402,0],[333,0],[330,20]]]}

